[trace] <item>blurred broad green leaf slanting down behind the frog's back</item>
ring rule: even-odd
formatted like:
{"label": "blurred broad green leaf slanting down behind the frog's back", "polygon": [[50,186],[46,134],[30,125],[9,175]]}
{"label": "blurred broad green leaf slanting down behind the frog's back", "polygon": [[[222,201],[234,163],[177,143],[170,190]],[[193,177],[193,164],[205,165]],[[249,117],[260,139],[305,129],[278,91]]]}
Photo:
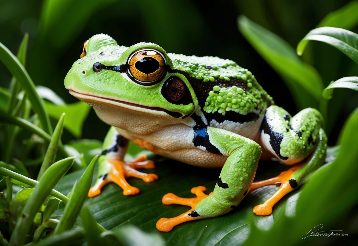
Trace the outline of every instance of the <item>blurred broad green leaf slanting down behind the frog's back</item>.
{"label": "blurred broad green leaf slanting down behind the frog's back", "polygon": [[[285,79],[287,86],[297,83],[320,101],[323,91],[320,75],[315,68],[302,62],[286,41],[245,16],[238,18],[238,27],[256,51]],[[306,100],[301,94],[295,96],[295,100]]]}

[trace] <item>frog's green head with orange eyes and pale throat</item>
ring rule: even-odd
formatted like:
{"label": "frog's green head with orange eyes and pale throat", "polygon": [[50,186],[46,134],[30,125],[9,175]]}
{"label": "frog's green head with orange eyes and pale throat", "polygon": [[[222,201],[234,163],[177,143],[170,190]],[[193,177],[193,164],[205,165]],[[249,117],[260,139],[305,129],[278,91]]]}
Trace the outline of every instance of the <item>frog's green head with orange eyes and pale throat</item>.
{"label": "frog's green head with orange eyes and pale throat", "polygon": [[184,75],[171,71],[170,58],[157,44],[128,48],[98,34],[83,44],[80,57],[65,87],[108,124],[126,129],[128,124],[150,125],[153,120],[160,127],[194,111],[192,87]]}

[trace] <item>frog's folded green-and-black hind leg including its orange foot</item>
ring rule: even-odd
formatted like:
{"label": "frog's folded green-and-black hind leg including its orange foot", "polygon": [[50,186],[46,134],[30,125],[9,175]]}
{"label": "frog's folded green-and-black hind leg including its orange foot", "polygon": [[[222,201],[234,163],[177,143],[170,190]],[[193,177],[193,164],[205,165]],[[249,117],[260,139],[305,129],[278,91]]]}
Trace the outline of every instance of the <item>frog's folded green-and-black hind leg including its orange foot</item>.
{"label": "frog's folded green-and-black hind leg including its orange foot", "polygon": [[250,191],[265,185],[280,184],[274,195],[253,208],[255,214],[270,215],[272,207],[282,197],[303,184],[324,163],[327,137],[321,124],[321,115],[314,109],[304,109],[292,119],[277,106],[267,109],[261,134],[265,147],[287,165],[302,161],[309,153],[311,155],[306,158],[306,163],[300,162],[274,178],[252,183]]}

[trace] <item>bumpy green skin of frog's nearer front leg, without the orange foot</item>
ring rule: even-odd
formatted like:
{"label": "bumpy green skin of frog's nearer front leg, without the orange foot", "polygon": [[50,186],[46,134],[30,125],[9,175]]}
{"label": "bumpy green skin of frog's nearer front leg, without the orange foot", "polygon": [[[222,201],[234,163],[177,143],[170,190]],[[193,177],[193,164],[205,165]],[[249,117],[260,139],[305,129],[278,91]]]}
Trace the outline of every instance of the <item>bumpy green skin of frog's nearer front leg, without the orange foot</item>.
{"label": "bumpy green skin of frog's nearer front leg, without the orange foot", "polygon": [[261,147],[255,141],[223,129],[208,128],[216,146],[228,156],[220,178],[228,188],[215,185],[214,193],[201,200],[195,210],[203,218],[225,214],[236,207],[247,194],[255,176]]}

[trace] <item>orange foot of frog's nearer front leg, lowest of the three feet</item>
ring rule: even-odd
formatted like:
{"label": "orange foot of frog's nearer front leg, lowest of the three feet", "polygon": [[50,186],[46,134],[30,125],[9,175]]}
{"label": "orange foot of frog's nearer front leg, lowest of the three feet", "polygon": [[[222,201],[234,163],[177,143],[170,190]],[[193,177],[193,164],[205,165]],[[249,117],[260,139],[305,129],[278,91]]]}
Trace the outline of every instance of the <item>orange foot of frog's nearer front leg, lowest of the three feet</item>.
{"label": "orange foot of frog's nearer front leg, lowest of the three feet", "polygon": [[161,218],[156,223],[156,228],[159,231],[163,232],[169,232],[173,229],[174,226],[177,226],[178,224],[184,223],[186,221],[192,221],[195,219],[201,219],[201,217],[198,217],[198,214],[196,213],[195,206],[205,197],[212,194],[212,192],[207,195],[204,193],[206,188],[204,186],[197,186],[190,190],[191,193],[195,194],[197,197],[194,198],[182,198],[174,195],[173,193],[168,193],[163,196],[163,199],[161,200],[163,204],[170,205],[170,204],[180,204],[180,205],[186,205],[189,207],[192,207],[188,212],[185,212],[183,214],[180,214],[179,216],[176,216],[174,218]]}

